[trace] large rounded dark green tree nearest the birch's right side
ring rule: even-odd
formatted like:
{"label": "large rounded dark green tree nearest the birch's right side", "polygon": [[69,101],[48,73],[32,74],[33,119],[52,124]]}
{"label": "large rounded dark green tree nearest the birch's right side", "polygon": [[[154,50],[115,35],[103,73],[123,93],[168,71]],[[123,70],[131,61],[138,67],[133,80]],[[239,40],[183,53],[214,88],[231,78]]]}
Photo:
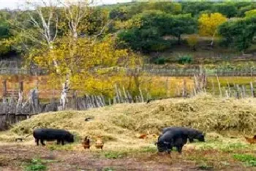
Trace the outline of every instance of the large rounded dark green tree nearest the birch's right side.
{"label": "large rounded dark green tree nearest the birch's right side", "polygon": [[170,15],[151,10],[132,17],[132,28],[118,33],[121,43],[143,52],[161,51],[170,46],[162,39],[169,28]]}

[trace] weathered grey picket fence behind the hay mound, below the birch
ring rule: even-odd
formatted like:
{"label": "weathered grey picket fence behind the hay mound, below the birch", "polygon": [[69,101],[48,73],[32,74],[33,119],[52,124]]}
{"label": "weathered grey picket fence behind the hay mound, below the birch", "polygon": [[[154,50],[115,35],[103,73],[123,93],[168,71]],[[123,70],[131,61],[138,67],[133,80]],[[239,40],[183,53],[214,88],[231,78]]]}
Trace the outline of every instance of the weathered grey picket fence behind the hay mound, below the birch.
{"label": "weathered grey picket fence behind the hay mound, below the birch", "polygon": [[[67,106],[65,110],[89,110],[90,108],[101,108],[116,103],[140,103],[144,102],[142,92],[140,95],[132,98],[128,90],[121,92],[118,86],[115,86],[116,95],[113,99],[105,101],[103,95],[83,95],[78,96],[77,92],[69,93],[67,98]],[[22,96],[20,96],[22,97]],[[24,119],[28,119],[31,115],[46,113],[50,111],[61,111],[61,103],[52,99],[50,103],[40,103],[39,93],[37,89],[29,92],[29,98],[23,100],[21,98],[10,97],[3,98],[0,103],[0,131],[6,130],[11,124],[15,124]]]}

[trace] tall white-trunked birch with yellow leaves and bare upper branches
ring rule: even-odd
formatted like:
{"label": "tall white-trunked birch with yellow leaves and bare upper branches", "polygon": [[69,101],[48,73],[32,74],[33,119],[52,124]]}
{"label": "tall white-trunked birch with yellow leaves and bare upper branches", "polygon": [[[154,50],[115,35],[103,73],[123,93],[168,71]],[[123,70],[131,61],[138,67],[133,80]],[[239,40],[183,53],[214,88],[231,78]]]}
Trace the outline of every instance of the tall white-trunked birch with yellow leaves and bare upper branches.
{"label": "tall white-trunked birch with yellow leaves and bare upper branches", "polygon": [[91,78],[91,69],[118,65],[120,59],[127,61],[127,49],[116,49],[112,37],[103,39],[108,23],[97,28],[102,25],[94,23],[97,7],[92,7],[88,1],[58,1],[63,7],[57,7],[58,3],[51,0],[41,3],[29,4],[34,10],[26,12],[26,20],[23,20],[29,23],[17,20],[15,25],[20,38],[28,40],[24,44],[26,59],[48,68],[62,80],[60,102],[64,109],[68,90],[75,81],[80,81],[75,78]]}

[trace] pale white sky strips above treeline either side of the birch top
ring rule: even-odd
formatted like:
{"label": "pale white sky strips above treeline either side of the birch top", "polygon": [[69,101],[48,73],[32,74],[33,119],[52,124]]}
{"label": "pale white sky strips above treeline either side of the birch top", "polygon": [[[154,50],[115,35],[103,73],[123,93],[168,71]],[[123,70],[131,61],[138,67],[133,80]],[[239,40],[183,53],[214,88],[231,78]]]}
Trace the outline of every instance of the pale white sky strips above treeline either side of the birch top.
{"label": "pale white sky strips above treeline either side of the birch top", "polygon": [[[26,0],[0,0],[0,9],[18,9],[22,7]],[[37,0],[34,0],[37,1]],[[129,0],[102,0],[103,4],[116,4],[121,2],[127,2]]]}

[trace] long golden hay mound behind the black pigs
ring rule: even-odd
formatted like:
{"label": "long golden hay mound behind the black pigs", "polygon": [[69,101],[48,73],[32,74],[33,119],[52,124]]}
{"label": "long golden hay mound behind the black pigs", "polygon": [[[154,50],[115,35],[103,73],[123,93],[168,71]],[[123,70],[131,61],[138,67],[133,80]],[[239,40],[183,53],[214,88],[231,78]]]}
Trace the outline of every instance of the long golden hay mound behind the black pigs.
{"label": "long golden hay mound behind the black pigs", "polygon": [[[102,135],[112,146],[146,146],[152,140],[138,140],[136,133],[159,134],[170,125],[194,127],[204,132],[256,132],[256,101],[225,100],[202,95],[188,100],[157,100],[149,104],[118,104],[90,111],[40,114],[16,124],[8,135],[26,135],[33,127],[69,130],[78,138]],[[87,117],[92,117],[85,122]],[[1,138],[1,135],[0,135]],[[1,138],[3,139],[3,138]]]}

